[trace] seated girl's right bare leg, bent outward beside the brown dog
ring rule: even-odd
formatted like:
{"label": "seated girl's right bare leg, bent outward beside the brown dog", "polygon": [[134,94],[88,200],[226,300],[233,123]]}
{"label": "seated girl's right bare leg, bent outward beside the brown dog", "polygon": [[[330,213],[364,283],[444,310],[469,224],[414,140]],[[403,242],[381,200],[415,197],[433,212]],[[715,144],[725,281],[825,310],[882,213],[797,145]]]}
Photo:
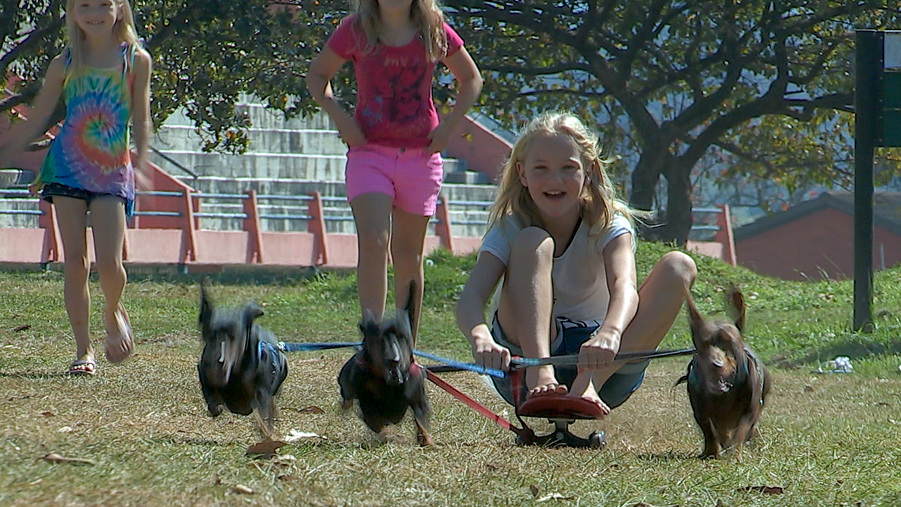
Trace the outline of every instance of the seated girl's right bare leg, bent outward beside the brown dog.
{"label": "seated girl's right bare leg, bent outward beside the brown dog", "polygon": [[[697,268],[691,257],[680,252],[664,254],[638,290],[638,311],[623,332],[620,352],[656,350],[678,317],[686,290],[695,283],[696,276]],[[603,386],[621,366],[622,362],[614,362],[593,375],[580,372],[571,391],[582,398],[600,401],[596,387]]]}

